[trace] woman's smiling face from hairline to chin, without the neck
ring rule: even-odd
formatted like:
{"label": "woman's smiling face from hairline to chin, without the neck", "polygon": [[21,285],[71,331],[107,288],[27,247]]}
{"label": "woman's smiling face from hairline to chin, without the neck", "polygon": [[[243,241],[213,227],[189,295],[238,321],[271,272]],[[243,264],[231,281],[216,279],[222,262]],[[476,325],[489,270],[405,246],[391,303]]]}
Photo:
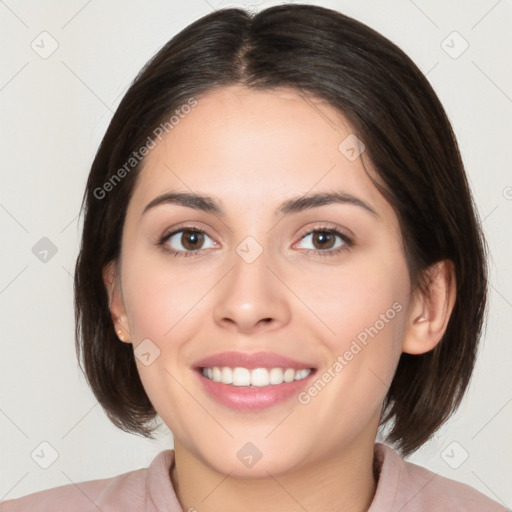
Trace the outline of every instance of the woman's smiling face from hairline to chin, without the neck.
{"label": "woman's smiling face from hairline to chin, without the neck", "polygon": [[[325,102],[237,86],[199,98],[145,159],[113,312],[176,445],[217,471],[373,446],[410,279],[353,137]],[[147,208],[169,193],[210,199]]]}

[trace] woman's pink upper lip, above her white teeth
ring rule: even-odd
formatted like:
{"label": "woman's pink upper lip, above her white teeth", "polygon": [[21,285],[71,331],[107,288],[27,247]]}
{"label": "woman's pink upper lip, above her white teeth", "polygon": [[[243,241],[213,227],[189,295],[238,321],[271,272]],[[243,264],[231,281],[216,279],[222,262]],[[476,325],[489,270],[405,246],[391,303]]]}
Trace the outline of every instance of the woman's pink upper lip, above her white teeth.
{"label": "woman's pink upper lip, above her white teeth", "polygon": [[196,368],[212,368],[214,366],[230,368],[314,368],[310,363],[297,361],[273,352],[222,352],[197,361]]}

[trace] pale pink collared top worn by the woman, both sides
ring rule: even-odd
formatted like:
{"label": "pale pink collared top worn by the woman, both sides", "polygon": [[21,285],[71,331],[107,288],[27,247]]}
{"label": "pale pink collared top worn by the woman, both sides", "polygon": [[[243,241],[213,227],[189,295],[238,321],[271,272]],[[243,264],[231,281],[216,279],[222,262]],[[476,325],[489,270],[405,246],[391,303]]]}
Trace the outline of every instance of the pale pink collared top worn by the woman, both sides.
{"label": "pale pink collared top worn by the woman, both sides", "polygon": [[[379,481],[368,512],[505,512],[468,485],[406,462],[375,444]],[[183,512],[169,470],[174,451],[164,450],[148,469],[113,478],[68,484],[0,503],[0,512]]]}

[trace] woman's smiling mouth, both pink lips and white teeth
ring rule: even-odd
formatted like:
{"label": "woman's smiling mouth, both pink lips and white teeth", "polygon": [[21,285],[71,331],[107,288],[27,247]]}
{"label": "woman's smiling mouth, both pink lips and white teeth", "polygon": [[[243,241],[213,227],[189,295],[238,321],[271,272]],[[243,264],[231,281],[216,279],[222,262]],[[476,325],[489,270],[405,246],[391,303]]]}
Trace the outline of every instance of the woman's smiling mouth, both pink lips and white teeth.
{"label": "woman's smiling mouth, both pink lips and white teeth", "polygon": [[296,397],[315,366],[269,352],[224,352],[194,365],[202,389],[230,409],[257,411]]}

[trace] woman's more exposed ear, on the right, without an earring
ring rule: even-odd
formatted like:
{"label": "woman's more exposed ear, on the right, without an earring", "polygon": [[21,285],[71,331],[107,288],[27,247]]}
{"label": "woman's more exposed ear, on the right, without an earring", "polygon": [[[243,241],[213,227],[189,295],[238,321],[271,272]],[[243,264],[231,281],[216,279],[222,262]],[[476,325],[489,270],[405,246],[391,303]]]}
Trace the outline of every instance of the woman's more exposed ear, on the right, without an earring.
{"label": "woman's more exposed ear, on the right, without an earring", "polygon": [[456,298],[456,280],[453,263],[443,260],[426,271],[427,287],[414,295],[402,351],[424,354],[442,339]]}

